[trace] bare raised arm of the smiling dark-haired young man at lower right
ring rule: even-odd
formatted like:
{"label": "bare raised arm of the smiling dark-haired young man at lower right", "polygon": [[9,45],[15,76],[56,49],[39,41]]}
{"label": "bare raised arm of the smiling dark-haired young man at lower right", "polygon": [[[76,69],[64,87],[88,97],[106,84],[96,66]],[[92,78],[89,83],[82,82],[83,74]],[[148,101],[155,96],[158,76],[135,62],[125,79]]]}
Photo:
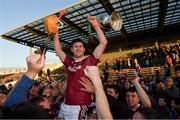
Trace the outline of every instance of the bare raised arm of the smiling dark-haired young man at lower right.
{"label": "bare raised arm of the smiling dark-haired young man at lower right", "polygon": [[151,101],[144,89],[141,87],[140,83],[138,82],[139,79],[140,78],[138,77],[137,72],[134,70],[134,77],[131,79],[131,83],[135,86],[137,94],[143,106],[151,108]]}

